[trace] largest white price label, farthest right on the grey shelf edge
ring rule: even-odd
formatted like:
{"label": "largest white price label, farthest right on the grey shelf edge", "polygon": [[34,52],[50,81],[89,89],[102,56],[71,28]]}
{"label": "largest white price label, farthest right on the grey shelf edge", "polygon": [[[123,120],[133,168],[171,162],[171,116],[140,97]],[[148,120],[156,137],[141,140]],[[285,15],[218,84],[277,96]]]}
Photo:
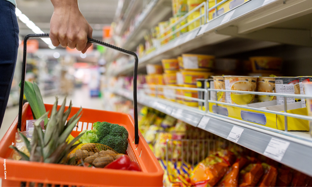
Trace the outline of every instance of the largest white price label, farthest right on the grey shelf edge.
{"label": "largest white price label, farthest right on the grey shelf edge", "polygon": [[275,160],[281,161],[289,144],[290,142],[288,141],[280,140],[277,138],[271,138],[263,154]]}

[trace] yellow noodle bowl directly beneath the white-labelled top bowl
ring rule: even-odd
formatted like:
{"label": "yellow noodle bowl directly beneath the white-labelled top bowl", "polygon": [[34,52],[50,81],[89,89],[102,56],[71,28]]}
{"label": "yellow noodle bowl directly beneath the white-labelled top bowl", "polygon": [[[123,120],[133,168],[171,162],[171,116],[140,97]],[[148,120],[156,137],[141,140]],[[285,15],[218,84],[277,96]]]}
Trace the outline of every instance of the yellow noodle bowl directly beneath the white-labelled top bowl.
{"label": "yellow noodle bowl directly beneath the white-labelled top bowl", "polygon": [[213,73],[201,71],[181,71],[185,87],[196,88],[196,79],[208,79]]}

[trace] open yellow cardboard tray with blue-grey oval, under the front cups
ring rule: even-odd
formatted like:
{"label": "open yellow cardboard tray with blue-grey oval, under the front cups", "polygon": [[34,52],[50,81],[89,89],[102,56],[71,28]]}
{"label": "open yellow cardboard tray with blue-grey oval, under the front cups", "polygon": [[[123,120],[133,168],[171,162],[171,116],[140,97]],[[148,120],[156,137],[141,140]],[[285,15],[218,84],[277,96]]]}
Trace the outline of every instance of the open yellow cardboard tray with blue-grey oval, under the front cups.
{"label": "open yellow cardboard tray with blue-grey oval, under the front cups", "polygon": [[[276,100],[262,102],[261,105],[263,106],[266,103],[276,103]],[[253,103],[250,105],[255,105],[259,103]],[[247,105],[248,106],[248,105]],[[272,109],[280,108],[282,105],[273,105],[270,107],[262,107],[265,109]],[[307,116],[307,109],[301,108],[300,103],[290,103],[287,105],[288,108],[296,108],[287,110],[287,113],[292,114],[300,114]],[[300,108],[298,108],[300,107]],[[271,127],[274,129],[285,130],[284,120],[285,117],[283,115],[276,115],[273,113],[261,112],[252,109],[244,109],[240,107],[232,107],[228,105],[218,104],[216,107],[215,103],[209,103],[209,111],[212,113],[218,113],[221,115],[225,115],[228,117],[232,117],[235,119],[243,120],[246,122],[251,122],[257,125],[262,125],[265,127]],[[284,111],[280,111],[284,112]],[[309,121],[302,120],[294,117],[287,117],[288,121],[288,131],[309,131]]]}

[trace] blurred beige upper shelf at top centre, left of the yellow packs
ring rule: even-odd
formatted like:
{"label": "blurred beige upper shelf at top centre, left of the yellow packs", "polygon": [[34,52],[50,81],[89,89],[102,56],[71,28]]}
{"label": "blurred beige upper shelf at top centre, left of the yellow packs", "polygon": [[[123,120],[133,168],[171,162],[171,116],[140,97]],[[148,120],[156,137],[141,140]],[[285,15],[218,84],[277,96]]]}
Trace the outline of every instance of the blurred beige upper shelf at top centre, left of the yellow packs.
{"label": "blurred beige upper shelf at top centre, left of the yellow packs", "polygon": [[171,0],[152,0],[141,13],[139,21],[134,25],[134,31],[122,47],[127,50],[134,50],[143,39],[144,34],[165,17],[168,17],[171,11]]}

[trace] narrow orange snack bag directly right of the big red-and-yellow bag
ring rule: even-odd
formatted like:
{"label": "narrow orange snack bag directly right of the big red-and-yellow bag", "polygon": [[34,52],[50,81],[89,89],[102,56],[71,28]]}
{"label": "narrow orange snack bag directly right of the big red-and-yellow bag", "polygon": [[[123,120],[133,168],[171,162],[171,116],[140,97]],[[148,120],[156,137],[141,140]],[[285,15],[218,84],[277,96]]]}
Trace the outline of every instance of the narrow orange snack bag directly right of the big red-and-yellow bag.
{"label": "narrow orange snack bag directly right of the big red-and-yellow bag", "polygon": [[224,175],[218,186],[237,187],[239,175],[239,161],[235,162],[232,167]]}

